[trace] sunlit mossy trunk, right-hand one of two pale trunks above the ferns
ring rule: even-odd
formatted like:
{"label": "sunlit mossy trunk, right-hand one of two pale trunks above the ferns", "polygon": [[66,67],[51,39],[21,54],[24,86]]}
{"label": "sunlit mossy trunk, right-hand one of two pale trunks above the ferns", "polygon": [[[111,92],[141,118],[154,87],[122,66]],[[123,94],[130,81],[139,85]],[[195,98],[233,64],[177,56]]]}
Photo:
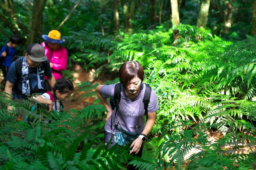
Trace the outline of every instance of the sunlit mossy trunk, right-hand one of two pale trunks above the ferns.
{"label": "sunlit mossy trunk, right-hand one of two pale trunks above the ferns", "polygon": [[200,0],[200,9],[196,27],[206,27],[209,14],[210,0]]}

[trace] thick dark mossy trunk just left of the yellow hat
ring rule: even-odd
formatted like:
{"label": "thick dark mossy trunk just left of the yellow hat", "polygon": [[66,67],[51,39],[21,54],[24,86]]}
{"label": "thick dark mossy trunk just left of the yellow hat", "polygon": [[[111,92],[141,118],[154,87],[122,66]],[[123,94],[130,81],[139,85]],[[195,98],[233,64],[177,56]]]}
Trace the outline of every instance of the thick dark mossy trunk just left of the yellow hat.
{"label": "thick dark mossy trunk just left of the yellow hat", "polygon": [[45,0],[35,0],[32,9],[32,24],[29,37],[26,41],[26,46],[34,43],[37,37],[43,33],[43,12]]}

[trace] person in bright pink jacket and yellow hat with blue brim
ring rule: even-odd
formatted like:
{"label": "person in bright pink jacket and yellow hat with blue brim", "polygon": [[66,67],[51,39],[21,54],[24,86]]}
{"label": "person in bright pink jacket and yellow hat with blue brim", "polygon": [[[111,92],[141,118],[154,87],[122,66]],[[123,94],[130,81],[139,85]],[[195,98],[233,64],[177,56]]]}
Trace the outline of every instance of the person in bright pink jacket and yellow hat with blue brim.
{"label": "person in bright pink jacket and yellow hat with blue brim", "polygon": [[[41,45],[45,49],[45,55],[47,56],[52,73],[56,80],[62,78],[62,70],[67,68],[67,50],[61,46],[65,40],[61,39],[61,33],[58,30],[53,29],[48,35],[42,35],[45,42]],[[47,86],[47,90],[49,86]]]}

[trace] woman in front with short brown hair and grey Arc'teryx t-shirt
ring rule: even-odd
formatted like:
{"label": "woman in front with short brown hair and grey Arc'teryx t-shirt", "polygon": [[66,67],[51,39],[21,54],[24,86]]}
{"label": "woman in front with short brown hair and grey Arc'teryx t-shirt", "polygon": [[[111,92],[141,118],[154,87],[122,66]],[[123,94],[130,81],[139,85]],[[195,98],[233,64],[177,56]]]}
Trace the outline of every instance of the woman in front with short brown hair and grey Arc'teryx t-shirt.
{"label": "woman in front with short brown hair and grey Arc'teryx t-shirt", "polygon": [[[130,154],[141,157],[143,143],[154,126],[156,111],[158,107],[157,95],[151,89],[150,99],[147,108],[147,121],[145,124],[145,108],[143,97],[147,84],[142,83],[144,70],[140,63],[127,61],[119,69],[120,79],[120,101],[118,106],[111,107],[109,97],[115,96],[115,86],[99,85],[96,87],[97,95],[108,111],[105,124],[105,144],[109,141],[108,148],[114,144],[119,146],[130,144]],[[117,110],[117,112],[116,112]],[[131,166],[128,169],[135,169]]]}

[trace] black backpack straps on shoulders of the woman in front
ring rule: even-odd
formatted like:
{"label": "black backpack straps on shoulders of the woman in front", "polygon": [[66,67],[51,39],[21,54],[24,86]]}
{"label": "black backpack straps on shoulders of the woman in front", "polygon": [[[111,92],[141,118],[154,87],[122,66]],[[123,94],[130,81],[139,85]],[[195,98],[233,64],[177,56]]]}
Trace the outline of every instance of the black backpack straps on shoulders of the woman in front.
{"label": "black backpack straps on shoulders of the woman in front", "polygon": [[[148,120],[148,103],[151,95],[151,87],[148,84],[145,84],[145,85],[146,85],[145,87],[146,89],[143,97],[143,103],[144,103],[146,120]],[[116,112],[119,108],[120,98],[121,98],[121,83],[117,83],[115,85],[114,97],[110,98],[110,104],[111,104],[112,110],[116,107]]]}

